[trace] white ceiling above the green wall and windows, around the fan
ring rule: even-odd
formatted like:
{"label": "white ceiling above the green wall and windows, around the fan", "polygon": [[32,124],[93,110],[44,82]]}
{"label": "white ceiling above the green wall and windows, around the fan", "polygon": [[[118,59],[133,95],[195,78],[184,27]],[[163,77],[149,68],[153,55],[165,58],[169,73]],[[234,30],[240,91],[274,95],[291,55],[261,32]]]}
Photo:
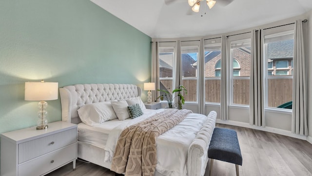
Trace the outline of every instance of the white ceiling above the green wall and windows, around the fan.
{"label": "white ceiling above the green wall and windows, around the fan", "polygon": [[[301,15],[312,0],[215,0],[192,12],[188,0],[91,0],[152,38],[207,36]],[[206,13],[206,14],[204,14]],[[201,17],[202,15],[202,17]],[[303,20],[303,19],[302,19]]]}

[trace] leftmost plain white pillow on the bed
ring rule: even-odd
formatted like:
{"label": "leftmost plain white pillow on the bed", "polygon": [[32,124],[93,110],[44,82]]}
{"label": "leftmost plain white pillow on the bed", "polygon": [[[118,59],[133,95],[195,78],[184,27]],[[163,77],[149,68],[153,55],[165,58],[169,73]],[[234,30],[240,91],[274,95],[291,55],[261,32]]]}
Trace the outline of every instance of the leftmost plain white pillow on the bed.
{"label": "leftmost plain white pillow on the bed", "polygon": [[99,102],[82,106],[78,109],[80,120],[90,126],[116,119],[117,115],[111,102]]}

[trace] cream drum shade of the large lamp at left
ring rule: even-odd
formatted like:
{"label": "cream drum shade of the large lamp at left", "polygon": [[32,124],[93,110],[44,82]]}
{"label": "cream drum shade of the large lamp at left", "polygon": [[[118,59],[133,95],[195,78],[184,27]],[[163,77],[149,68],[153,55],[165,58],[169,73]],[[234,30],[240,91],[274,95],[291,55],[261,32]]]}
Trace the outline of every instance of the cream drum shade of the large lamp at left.
{"label": "cream drum shade of the large lamp at left", "polygon": [[26,101],[46,101],[58,99],[59,83],[25,82]]}

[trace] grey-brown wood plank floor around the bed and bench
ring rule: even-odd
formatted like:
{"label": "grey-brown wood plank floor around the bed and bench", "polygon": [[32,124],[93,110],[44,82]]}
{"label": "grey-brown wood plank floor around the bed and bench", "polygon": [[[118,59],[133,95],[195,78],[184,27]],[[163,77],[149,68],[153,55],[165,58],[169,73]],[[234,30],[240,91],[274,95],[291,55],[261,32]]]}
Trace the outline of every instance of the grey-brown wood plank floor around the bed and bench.
{"label": "grey-brown wood plank floor around the bed and bench", "polygon": [[[216,124],[216,127],[237,132],[243,165],[240,176],[312,176],[312,144],[305,140],[243,127]],[[209,176],[209,164],[205,176]],[[77,161],[47,176],[115,176],[115,173],[95,164]],[[234,164],[215,160],[213,176],[235,176]]]}

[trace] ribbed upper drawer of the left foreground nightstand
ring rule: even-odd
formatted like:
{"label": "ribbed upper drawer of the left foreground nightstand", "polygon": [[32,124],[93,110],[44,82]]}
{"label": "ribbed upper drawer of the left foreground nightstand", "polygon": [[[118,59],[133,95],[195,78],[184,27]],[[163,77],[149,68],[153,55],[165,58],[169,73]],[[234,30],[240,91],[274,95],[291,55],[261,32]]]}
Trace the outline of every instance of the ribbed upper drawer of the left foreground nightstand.
{"label": "ribbed upper drawer of the left foreground nightstand", "polygon": [[19,164],[76,143],[77,129],[54,133],[19,144]]}

